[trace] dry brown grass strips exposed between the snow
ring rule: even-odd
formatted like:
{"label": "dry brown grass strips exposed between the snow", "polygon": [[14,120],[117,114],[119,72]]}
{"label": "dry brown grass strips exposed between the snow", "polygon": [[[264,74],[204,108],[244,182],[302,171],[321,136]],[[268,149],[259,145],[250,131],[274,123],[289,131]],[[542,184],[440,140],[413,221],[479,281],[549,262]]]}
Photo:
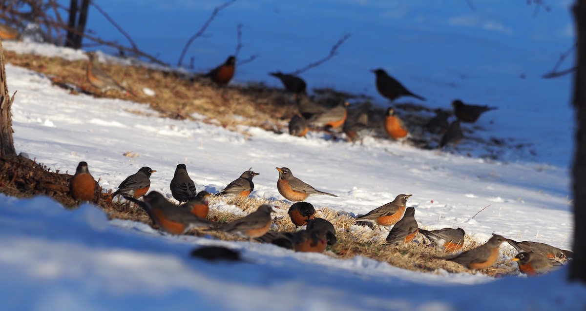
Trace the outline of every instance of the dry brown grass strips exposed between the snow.
{"label": "dry brown grass strips exposed between the snow", "polygon": [[[282,91],[256,86],[229,86],[216,87],[205,79],[189,81],[185,77],[173,72],[157,71],[144,67],[122,66],[118,64],[101,64],[104,71],[111,74],[117,81],[126,81],[132,94],[108,91],[101,94],[86,81],[86,61],[67,61],[58,57],[44,57],[28,54],[16,54],[5,51],[9,63],[42,72],[52,78],[56,85],[74,85],[72,93],[87,92],[97,97],[130,99],[135,102],[146,103],[158,111],[161,116],[168,118],[189,118],[191,113],[199,113],[207,119],[205,122],[217,120],[229,129],[236,129],[237,125],[251,125],[262,127],[276,132],[285,127],[283,120],[291,118],[296,112],[291,99]],[[142,88],[150,88],[156,96],[142,94]],[[420,106],[406,106],[403,109],[424,109]],[[243,118],[234,118],[241,116]],[[413,116],[417,116],[416,113]],[[413,117],[415,118],[415,117]],[[419,117],[420,118],[420,117]],[[420,118],[421,119],[421,118]],[[423,119],[411,120],[412,123],[423,124]],[[0,192],[18,197],[30,197],[39,194],[52,196],[64,206],[72,208],[75,202],[67,195],[69,178],[71,175],[50,172],[46,167],[29,160],[12,161],[0,159]],[[111,219],[127,219],[150,224],[148,215],[133,204],[120,202],[118,199],[109,199],[110,192],[103,193],[98,187],[94,203],[100,206]],[[268,201],[262,198],[212,198],[210,206],[217,200],[225,200],[250,213],[261,204],[277,206],[277,216],[274,226],[278,231],[294,231],[295,226],[289,220],[287,210],[291,203],[286,201]],[[427,247],[427,241],[421,234],[417,237],[419,243],[408,243],[404,246],[387,246],[384,241],[388,231],[378,226],[357,226],[355,219],[343,212],[336,212],[327,206],[321,207],[317,215],[334,224],[337,230],[338,243],[328,247],[326,254],[332,257],[345,259],[357,255],[374,260],[389,262],[389,264],[405,269],[421,272],[439,272],[445,269],[448,272],[471,272],[454,262],[438,260],[435,257],[448,255],[442,251]],[[221,210],[211,209],[209,218],[219,224],[230,223],[239,216]],[[244,240],[232,234],[219,230],[193,230],[190,234],[202,236],[209,234],[222,240]],[[464,250],[475,247],[475,243],[465,237]],[[509,254],[512,255],[512,254]],[[480,273],[498,276],[516,273],[516,265],[510,262],[498,262],[496,268],[489,268]]]}

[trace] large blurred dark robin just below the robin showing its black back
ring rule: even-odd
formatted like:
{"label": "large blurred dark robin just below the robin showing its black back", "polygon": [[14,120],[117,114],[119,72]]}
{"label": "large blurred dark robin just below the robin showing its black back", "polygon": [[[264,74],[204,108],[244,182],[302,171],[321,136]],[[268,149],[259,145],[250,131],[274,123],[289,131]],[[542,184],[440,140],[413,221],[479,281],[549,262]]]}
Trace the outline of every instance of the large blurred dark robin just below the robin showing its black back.
{"label": "large blurred dark robin just below the robin showing its black back", "polygon": [[193,215],[182,206],[167,201],[165,196],[156,191],[145,195],[144,201],[132,197],[128,199],[144,209],[161,230],[171,234],[185,234],[192,228],[212,225],[207,220]]}

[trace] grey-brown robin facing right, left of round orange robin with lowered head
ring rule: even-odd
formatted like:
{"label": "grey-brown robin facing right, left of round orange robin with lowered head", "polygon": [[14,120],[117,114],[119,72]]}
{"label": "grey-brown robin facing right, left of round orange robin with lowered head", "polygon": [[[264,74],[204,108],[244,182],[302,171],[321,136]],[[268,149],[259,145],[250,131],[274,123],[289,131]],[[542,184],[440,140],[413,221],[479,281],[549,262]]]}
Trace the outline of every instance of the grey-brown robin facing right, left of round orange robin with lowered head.
{"label": "grey-brown robin facing right, left of round orange robin with lowered head", "polygon": [[261,205],[254,212],[227,224],[220,230],[239,234],[248,239],[264,236],[271,227],[271,212],[272,206]]}

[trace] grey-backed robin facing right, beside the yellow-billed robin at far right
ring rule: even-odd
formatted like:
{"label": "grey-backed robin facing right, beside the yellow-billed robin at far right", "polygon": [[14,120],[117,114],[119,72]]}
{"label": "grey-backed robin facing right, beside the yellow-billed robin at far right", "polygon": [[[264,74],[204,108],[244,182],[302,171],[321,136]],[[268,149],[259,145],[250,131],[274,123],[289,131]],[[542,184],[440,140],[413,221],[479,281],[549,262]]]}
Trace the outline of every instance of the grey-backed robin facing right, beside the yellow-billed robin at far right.
{"label": "grey-backed robin facing right, beside the yellow-billed robin at far right", "polygon": [[499,258],[499,246],[504,241],[506,241],[504,237],[495,234],[488,240],[488,242],[474,248],[473,250],[448,257],[440,257],[438,259],[458,262],[458,264],[461,264],[468,269],[479,270],[489,268],[492,267],[492,265],[495,264],[496,259]]}

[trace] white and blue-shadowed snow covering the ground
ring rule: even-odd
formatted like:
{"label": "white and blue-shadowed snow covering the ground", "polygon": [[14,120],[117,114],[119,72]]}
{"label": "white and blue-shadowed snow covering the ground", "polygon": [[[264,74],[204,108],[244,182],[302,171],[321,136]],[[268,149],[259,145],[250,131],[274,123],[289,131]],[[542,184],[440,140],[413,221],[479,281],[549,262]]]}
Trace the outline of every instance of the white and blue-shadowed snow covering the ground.
{"label": "white and blue-shadowed snow covering the ground", "polygon": [[[497,5],[505,2],[510,9]],[[316,208],[328,206],[357,215],[407,193],[413,194],[407,206],[415,207],[415,218],[424,228],[462,226],[479,242],[494,232],[571,249],[571,78],[540,78],[571,44],[570,2],[551,3],[551,13],[541,11],[536,17],[530,16],[532,9],[524,2],[505,2],[473,1],[475,12],[465,2],[455,6],[446,1],[312,2],[315,10],[305,11],[292,8],[301,7],[297,2],[279,2],[277,17],[287,16],[281,20],[287,25],[295,16],[307,22],[321,13],[324,25],[350,19],[344,25],[356,28],[349,29],[353,37],[339,56],[304,75],[311,85],[358,89],[387,105],[367,72],[383,66],[414,92],[430,98],[424,105],[447,108],[458,97],[499,106],[482,116],[474,126],[475,135],[523,143],[520,148],[465,142],[456,150],[437,151],[380,139],[349,144],[327,140],[320,133],[291,137],[249,126],[230,132],[197,121],[159,118],[138,103],[70,95],[53,87],[44,75],[8,64],[9,89],[18,90],[12,106],[15,147],[54,170],[72,173],[79,161],[87,161],[104,189],[114,189],[147,165],[157,171],[151,177],[151,189],[169,199],[169,182],[179,163],[186,164],[198,191],[212,192],[252,167],[260,175],[254,178],[251,195],[268,199],[282,199],[275,167],[288,167],[316,189],[339,195],[312,197],[309,202]],[[196,5],[187,6],[186,12],[207,16],[205,12],[216,2],[206,4],[205,10]],[[256,12],[267,7],[239,1],[222,12],[222,19],[230,19],[236,9]],[[329,9],[328,13],[323,9]],[[311,47],[312,40],[333,44],[329,36],[342,31],[336,29],[328,40],[318,38],[324,36],[319,31],[322,26],[315,26],[315,32],[285,36],[283,27],[270,27],[274,18],[264,20],[268,26],[263,31],[279,40],[271,44],[275,49],[288,46],[277,43],[294,40],[307,43],[296,44],[299,49]],[[261,29],[260,21],[244,23],[251,32]],[[364,40],[374,34],[365,31],[381,25],[380,31],[391,37],[372,49],[372,43]],[[202,40],[219,40],[220,29],[213,32],[216,36]],[[414,44],[419,44],[417,49]],[[80,51],[47,44],[5,42],[4,46],[85,58]],[[329,47],[319,50],[323,53]],[[357,58],[363,53],[364,58]],[[264,57],[258,58],[258,63],[237,71],[237,82],[316,58],[291,50],[289,54],[294,58],[285,64],[277,59],[285,53],[267,53],[272,66],[261,62]],[[345,66],[340,68],[340,63]],[[253,65],[259,69],[253,70]],[[254,80],[261,79],[265,77]],[[124,156],[128,153],[132,157]],[[498,160],[486,154],[498,154]],[[584,310],[586,306],[586,288],[565,281],[567,267],[540,278],[493,279],[441,270],[425,274],[363,257],[338,260],[258,243],[168,236],[143,223],[108,221],[91,205],[70,211],[43,197],[19,200],[0,195],[0,206],[0,301],[9,310],[194,306],[217,310]],[[210,208],[244,214],[222,202]],[[286,212],[280,209],[278,215]],[[210,264],[189,257],[193,248],[203,245],[236,248],[246,262]]]}

